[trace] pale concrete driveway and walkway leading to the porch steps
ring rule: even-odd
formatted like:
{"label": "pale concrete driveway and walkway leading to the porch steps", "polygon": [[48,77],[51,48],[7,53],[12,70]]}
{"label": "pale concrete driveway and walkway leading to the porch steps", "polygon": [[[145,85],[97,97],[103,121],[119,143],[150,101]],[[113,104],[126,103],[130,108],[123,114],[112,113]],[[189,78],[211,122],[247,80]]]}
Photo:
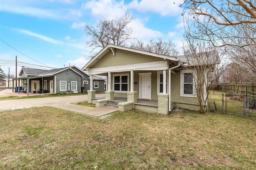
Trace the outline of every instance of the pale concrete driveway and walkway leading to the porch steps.
{"label": "pale concrete driveway and walkway leading to the porch steps", "polygon": [[[103,97],[105,94],[96,94],[97,97]],[[87,95],[80,96],[64,96],[64,97],[52,97],[52,98],[33,98],[33,99],[18,99],[18,100],[3,100],[0,101],[0,109],[12,109],[23,107],[35,107],[35,106],[54,106],[70,111],[75,111],[84,115],[92,117],[100,117],[114,111],[118,111],[116,107],[86,107],[79,106],[71,103],[85,102],[87,101]]]}

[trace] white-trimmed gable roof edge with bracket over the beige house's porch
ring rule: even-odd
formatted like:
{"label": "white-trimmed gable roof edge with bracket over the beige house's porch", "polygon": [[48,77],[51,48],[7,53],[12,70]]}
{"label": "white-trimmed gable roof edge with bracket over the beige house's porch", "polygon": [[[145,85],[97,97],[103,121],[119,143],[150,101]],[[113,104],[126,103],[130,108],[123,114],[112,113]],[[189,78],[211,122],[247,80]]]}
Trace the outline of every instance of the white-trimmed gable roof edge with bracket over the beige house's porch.
{"label": "white-trimmed gable roof edge with bracket over the beige house's porch", "polygon": [[94,56],[83,68],[82,70],[86,70],[86,68],[90,68],[91,66],[93,66],[95,63],[97,63],[97,61],[99,61],[106,53],[108,53],[108,51],[112,51],[113,55],[115,55],[115,49],[121,49],[121,50],[125,50],[125,51],[131,51],[134,53],[140,53],[140,54],[144,54],[144,55],[150,55],[153,57],[159,57],[162,59],[168,59],[168,60],[172,60],[172,61],[177,61],[176,57],[172,57],[172,56],[168,56],[168,55],[161,55],[161,54],[157,54],[157,53],[151,53],[142,49],[138,49],[138,48],[134,48],[134,47],[122,47],[122,46],[118,46],[118,45],[112,45],[112,44],[108,44],[104,49],[102,49],[96,56]]}

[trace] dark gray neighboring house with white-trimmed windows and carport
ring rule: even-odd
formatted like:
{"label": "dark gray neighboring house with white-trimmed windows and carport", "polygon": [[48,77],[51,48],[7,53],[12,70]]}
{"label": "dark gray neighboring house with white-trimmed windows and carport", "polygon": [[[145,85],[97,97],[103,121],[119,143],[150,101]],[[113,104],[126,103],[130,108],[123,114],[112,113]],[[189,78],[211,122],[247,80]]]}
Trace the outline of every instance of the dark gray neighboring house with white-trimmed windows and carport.
{"label": "dark gray neighboring house with white-trimmed windows and carport", "polygon": [[[56,68],[52,70],[42,70],[22,67],[19,73],[20,80],[18,92],[29,93],[78,93],[87,92],[90,89],[90,80],[93,90],[97,92],[105,91],[105,79],[88,74],[76,66]],[[21,84],[20,84],[21,82]]]}

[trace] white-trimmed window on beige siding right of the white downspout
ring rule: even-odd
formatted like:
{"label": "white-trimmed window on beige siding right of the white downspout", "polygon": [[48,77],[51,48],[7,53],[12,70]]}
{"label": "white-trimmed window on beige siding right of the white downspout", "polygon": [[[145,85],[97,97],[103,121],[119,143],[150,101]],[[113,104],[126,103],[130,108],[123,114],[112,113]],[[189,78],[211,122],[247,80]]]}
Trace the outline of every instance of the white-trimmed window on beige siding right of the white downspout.
{"label": "white-trimmed window on beige siding right of the white downspout", "polygon": [[194,70],[180,71],[180,96],[196,97],[196,72]]}

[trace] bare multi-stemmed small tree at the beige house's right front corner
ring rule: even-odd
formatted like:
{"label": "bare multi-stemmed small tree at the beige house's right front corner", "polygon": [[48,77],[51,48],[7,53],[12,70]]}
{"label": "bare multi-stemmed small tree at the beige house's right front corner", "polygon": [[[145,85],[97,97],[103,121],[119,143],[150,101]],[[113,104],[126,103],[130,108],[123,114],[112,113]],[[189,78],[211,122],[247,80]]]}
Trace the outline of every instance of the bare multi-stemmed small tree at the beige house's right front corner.
{"label": "bare multi-stemmed small tree at the beige house's right front corner", "polygon": [[[220,58],[216,49],[209,43],[184,36],[183,52],[187,63],[184,64],[190,71],[195,88],[194,93],[198,99],[200,113],[205,114],[209,92],[214,82],[213,72]],[[192,88],[192,87],[190,87]],[[189,90],[189,89],[188,89]]]}

